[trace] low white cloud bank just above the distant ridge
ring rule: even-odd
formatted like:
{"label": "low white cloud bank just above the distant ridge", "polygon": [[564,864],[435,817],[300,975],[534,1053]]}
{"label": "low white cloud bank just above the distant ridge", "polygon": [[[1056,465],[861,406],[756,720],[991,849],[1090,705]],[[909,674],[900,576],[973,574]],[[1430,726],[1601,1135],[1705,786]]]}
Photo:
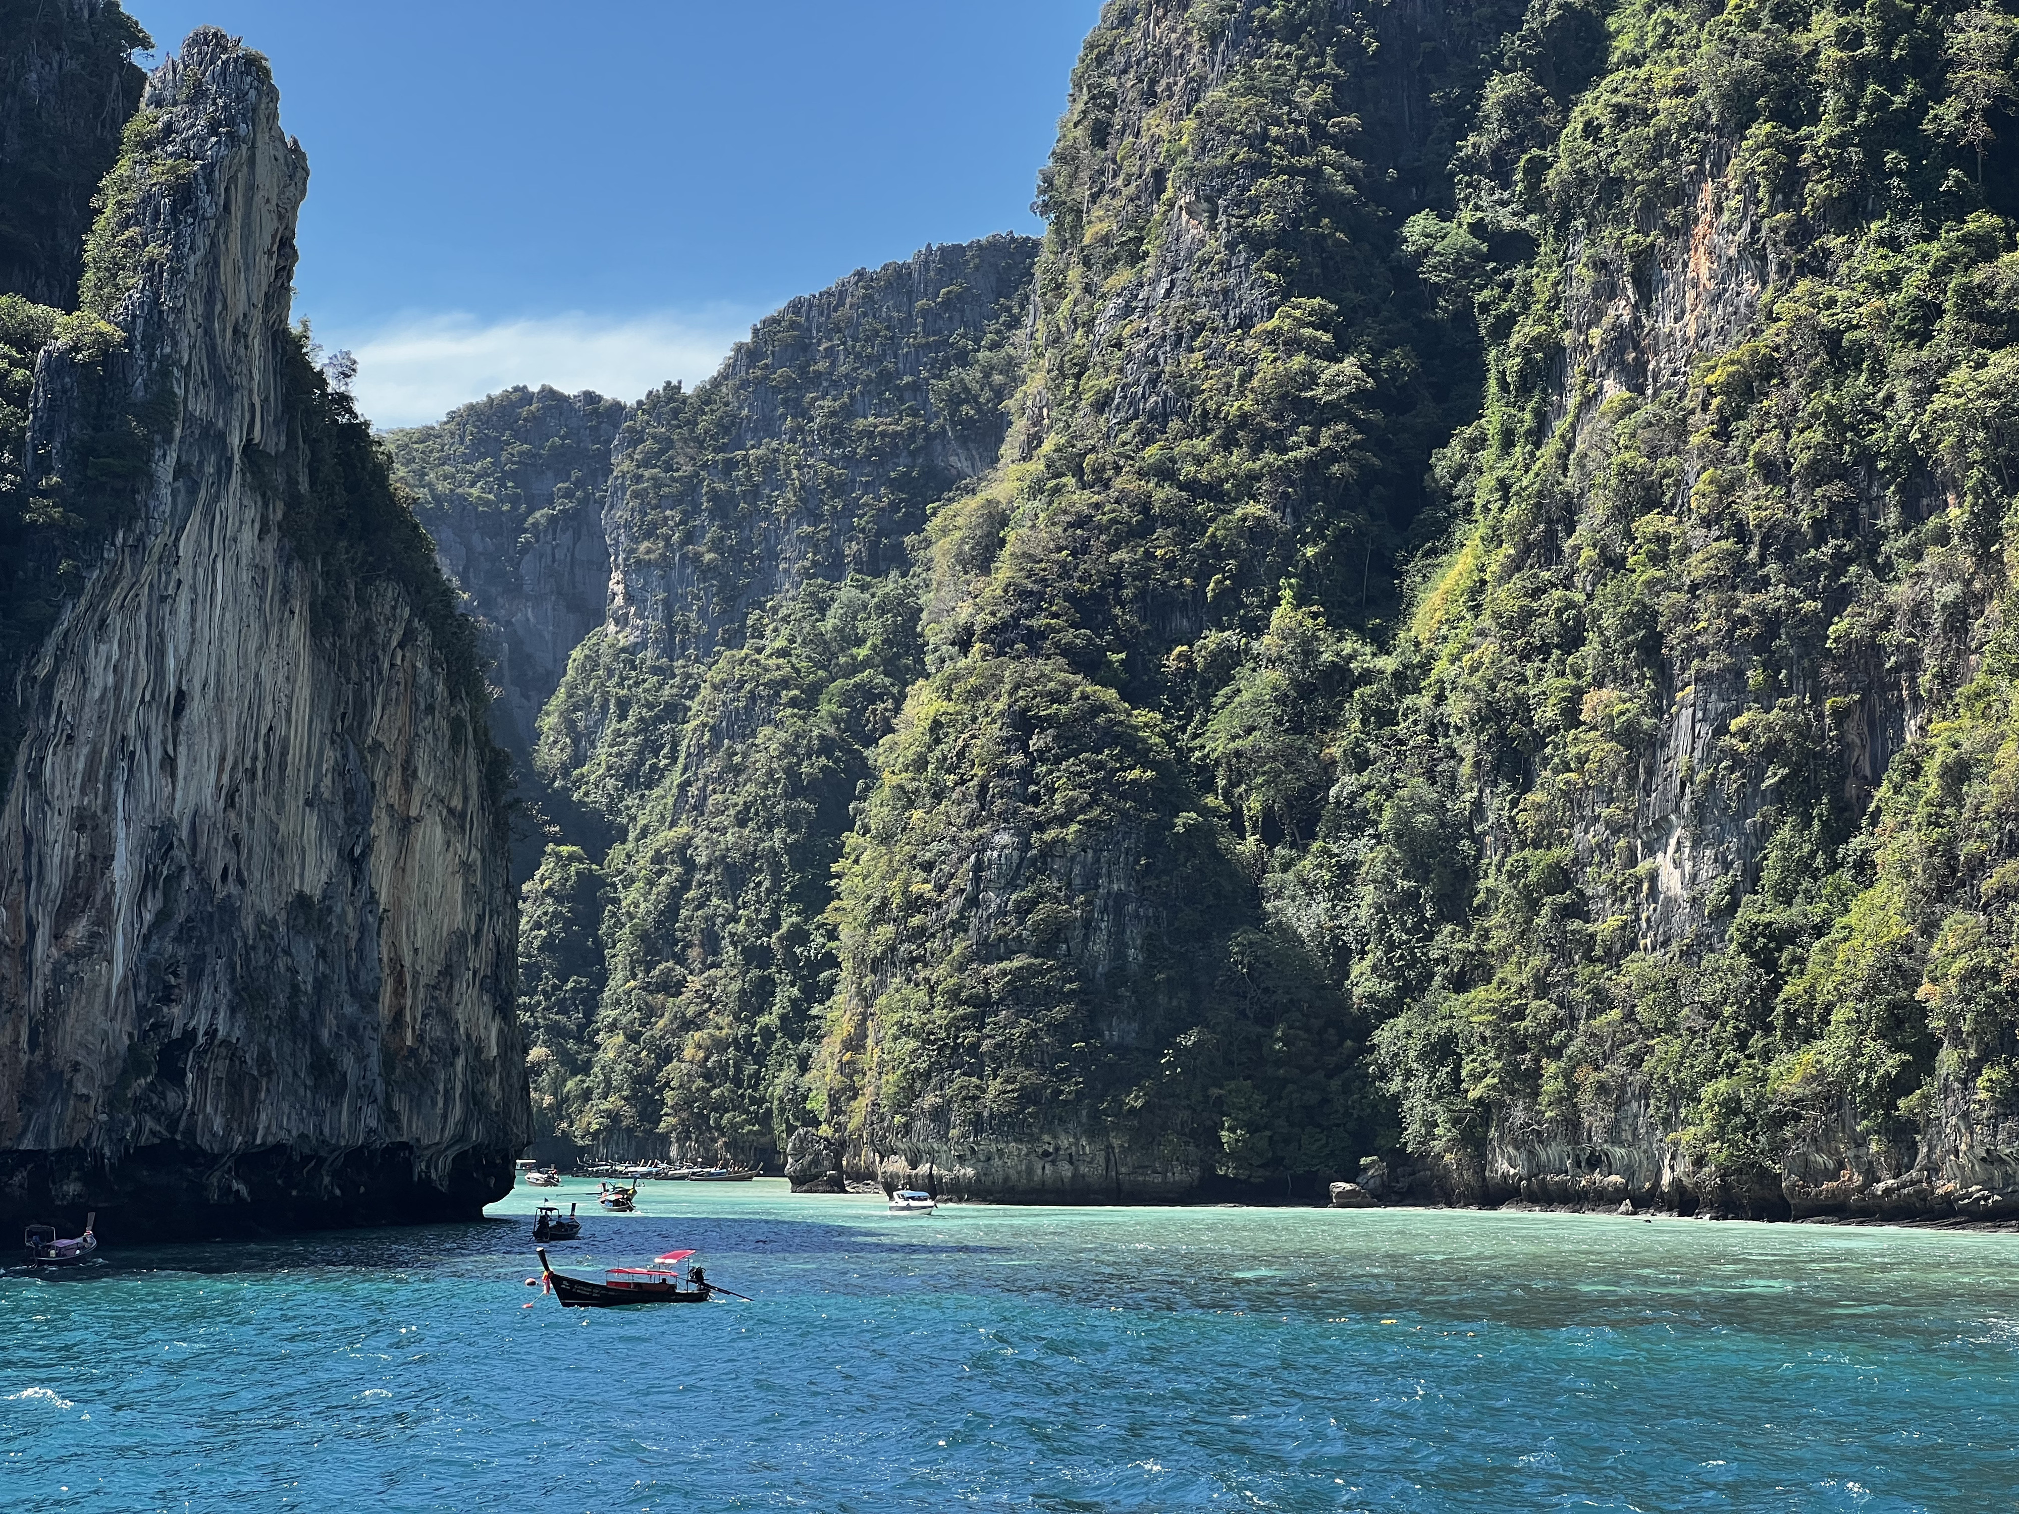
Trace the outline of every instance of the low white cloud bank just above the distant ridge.
{"label": "low white cloud bank just above the distant ridge", "polygon": [[374,426],[426,426],[513,384],[551,384],[636,400],[670,380],[709,377],[749,335],[751,315],[709,309],[634,319],[541,315],[483,323],[472,315],[416,315],[376,331],[317,329],[357,357],[351,392]]}

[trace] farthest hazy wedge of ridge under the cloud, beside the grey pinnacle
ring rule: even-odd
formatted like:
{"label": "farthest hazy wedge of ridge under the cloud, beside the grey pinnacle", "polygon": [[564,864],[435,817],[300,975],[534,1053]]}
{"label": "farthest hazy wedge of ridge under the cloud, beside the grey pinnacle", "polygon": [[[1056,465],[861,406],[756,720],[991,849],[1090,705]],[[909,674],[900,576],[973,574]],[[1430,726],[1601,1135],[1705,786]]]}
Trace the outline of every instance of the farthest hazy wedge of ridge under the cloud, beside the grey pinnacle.
{"label": "farthest hazy wedge of ridge under the cloud, beside the grey pinnacle", "polygon": [[604,495],[624,406],[541,386],[386,434],[394,476],[483,628],[497,739],[531,771],[539,711],[604,622]]}

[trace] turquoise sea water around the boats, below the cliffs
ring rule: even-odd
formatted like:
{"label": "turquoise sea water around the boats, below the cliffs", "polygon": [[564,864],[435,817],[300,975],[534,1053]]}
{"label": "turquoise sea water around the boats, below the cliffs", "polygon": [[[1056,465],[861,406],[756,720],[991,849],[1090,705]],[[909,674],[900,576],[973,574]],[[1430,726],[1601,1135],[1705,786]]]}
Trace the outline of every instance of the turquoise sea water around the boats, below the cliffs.
{"label": "turquoise sea water around the boats, below the cliffs", "polygon": [[[2019,1506],[2019,1235],[949,1207],[648,1183],[553,1248],[751,1304],[561,1310],[474,1225],[0,1278],[34,1510]],[[533,1304],[533,1308],[525,1308]]]}

